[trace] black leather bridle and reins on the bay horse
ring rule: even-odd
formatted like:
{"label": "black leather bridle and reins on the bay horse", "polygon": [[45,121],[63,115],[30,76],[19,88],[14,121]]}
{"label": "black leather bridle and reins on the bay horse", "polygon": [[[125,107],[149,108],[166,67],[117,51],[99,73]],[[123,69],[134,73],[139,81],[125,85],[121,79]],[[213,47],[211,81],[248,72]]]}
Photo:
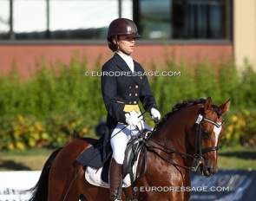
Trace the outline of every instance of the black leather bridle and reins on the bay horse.
{"label": "black leather bridle and reins on the bay horse", "polygon": [[[218,128],[220,128],[224,124],[224,120],[221,124],[218,124],[218,123],[214,122],[213,120],[209,120],[209,119],[203,117],[202,114],[199,114],[197,120],[195,121],[195,125],[197,125],[197,126],[196,126],[195,151],[194,151],[193,155],[185,153],[185,152],[179,152],[179,151],[174,150],[173,148],[163,146],[159,142],[155,141],[154,139],[151,139],[150,137],[148,139],[146,139],[148,151],[154,152],[157,156],[159,156],[161,159],[163,159],[167,163],[174,165],[175,168],[179,172],[181,172],[181,170],[179,170],[178,167],[185,168],[190,171],[196,172],[198,167],[204,163],[204,159],[203,159],[204,153],[212,152],[212,151],[217,152],[220,149],[219,146],[211,146],[211,147],[207,147],[207,148],[203,148],[201,146],[201,127],[202,127],[201,123],[202,123],[202,121],[207,121],[208,123],[211,123],[211,124],[213,124],[213,126],[217,126]],[[154,142],[154,144],[156,144],[158,146],[153,146],[150,142]],[[166,152],[168,154],[177,153],[179,155],[186,156],[187,158],[194,160],[193,165],[191,167],[186,166],[186,165],[179,165],[173,161],[170,161],[169,159],[165,159],[158,152],[156,152],[156,150],[161,150],[162,152]]]}

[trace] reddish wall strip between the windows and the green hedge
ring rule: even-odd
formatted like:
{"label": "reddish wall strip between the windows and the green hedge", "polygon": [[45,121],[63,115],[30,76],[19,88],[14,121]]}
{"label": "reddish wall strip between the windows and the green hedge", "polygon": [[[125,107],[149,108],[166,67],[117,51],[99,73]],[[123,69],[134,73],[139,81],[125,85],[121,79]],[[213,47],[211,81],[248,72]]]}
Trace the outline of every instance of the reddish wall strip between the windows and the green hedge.
{"label": "reddish wall strip between the windows and the green hedge", "polygon": [[[56,64],[63,62],[69,64],[70,58],[77,53],[81,58],[83,55],[89,59],[89,68],[95,66],[95,62],[101,55],[101,65],[110,58],[113,53],[107,44],[2,44],[0,45],[0,75],[10,72],[13,63],[28,78],[30,70],[33,72],[36,62],[40,63],[42,58]],[[192,60],[197,57],[218,59],[220,57],[232,56],[232,44],[143,44],[138,42],[135,52],[132,54],[137,62],[141,62],[144,68],[151,68],[152,61],[161,67],[165,55],[175,54],[179,61],[181,58]]]}

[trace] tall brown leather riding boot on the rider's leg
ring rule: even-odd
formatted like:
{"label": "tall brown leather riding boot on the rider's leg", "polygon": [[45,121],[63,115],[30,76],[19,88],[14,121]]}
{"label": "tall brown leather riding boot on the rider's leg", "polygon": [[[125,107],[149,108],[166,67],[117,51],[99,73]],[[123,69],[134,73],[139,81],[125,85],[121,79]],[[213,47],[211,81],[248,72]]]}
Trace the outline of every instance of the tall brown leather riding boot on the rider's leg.
{"label": "tall brown leather riding boot on the rider's leg", "polygon": [[119,186],[121,185],[121,164],[116,163],[115,159],[111,159],[110,169],[109,169],[109,191],[110,200],[120,200],[117,199],[117,194]]}

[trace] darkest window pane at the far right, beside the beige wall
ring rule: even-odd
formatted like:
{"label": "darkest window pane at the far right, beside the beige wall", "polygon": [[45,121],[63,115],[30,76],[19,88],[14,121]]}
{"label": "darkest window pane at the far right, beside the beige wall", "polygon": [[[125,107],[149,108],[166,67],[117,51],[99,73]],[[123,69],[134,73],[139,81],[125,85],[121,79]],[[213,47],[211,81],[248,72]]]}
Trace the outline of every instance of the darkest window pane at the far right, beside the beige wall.
{"label": "darkest window pane at the far right, beside the beige wall", "polygon": [[230,1],[174,0],[173,38],[230,39]]}

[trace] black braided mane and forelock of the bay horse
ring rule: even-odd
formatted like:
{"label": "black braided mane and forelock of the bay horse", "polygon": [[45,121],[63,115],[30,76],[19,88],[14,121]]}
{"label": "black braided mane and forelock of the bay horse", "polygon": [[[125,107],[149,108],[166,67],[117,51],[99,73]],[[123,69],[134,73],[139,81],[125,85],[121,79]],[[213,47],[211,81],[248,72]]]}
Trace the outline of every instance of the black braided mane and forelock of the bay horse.
{"label": "black braided mane and forelock of the bay horse", "polygon": [[[156,130],[158,130],[159,128],[161,128],[161,126],[163,126],[167,120],[174,115],[174,113],[180,111],[182,108],[187,107],[187,105],[193,105],[196,106],[198,104],[204,104],[206,101],[206,99],[198,99],[198,100],[183,100],[183,102],[181,103],[177,103],[171,112],[167,113],[166,115],[163,116],[163,118],[161,119],[161,121],[159,122],[159,124],[156,126]],[[220,108],[213,105],[213,110],[215,111],[215,113],[217,113],[218,118],[220,118],[221,113],[220,113]]]}

